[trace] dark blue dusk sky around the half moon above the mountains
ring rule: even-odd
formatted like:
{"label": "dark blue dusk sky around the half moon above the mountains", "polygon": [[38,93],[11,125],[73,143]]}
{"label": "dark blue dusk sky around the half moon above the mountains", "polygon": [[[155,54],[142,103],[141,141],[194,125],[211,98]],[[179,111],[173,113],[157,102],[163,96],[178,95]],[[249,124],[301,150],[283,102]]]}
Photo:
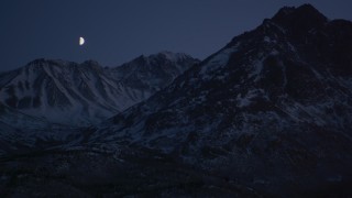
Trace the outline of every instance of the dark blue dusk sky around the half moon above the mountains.
{"label": "dark blue dusk sky around the half moon above the mountains", "polygon": [[117,66],[167,50],[205,58],[279,8],[307,2],[352,20],[351,0],[1,0],[0,72],[41,57]]}

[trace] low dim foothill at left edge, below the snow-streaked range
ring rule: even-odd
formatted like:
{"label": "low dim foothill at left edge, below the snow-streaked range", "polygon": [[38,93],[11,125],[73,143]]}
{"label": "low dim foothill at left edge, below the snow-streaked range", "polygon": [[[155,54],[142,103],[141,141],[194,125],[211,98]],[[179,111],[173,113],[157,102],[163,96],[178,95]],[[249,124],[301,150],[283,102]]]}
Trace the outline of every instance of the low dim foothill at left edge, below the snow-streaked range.
{"label": "low dim foothill at left edge, below the snow-streaked range", "polygon": [[73,135],[77,133],[77,129],[24,114],[0,102],[0,157],[64,146],[75,141]]}

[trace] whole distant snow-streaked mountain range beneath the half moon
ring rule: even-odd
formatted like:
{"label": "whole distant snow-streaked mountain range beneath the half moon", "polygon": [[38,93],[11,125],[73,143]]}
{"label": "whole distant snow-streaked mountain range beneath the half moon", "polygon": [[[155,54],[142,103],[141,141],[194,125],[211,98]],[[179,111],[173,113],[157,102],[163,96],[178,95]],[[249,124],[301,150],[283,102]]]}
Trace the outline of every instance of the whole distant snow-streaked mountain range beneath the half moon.
{"label": "whole distant snow-streaked mountain range beneath the half moon", "polygon": [[114,68],[36,59],[0,74],[0,101],[53,123],[97,123],[148,98],[197,63],[185,54],[141,56]]}

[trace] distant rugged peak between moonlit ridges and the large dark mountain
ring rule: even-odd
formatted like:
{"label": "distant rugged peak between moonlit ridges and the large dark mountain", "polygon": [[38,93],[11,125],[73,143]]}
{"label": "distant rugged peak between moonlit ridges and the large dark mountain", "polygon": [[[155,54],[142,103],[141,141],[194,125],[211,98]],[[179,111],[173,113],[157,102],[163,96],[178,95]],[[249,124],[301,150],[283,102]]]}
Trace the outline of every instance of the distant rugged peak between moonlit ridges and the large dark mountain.
{"label": "distant rugged peak between moonlit ridges and the large dark mountain", "polygon": [[112,73],[121,84],[134,89],[146,89],[151,96],[152,92],[169,85],[196,63],[198,61],[186,54],[165,51],[147,57],[142,55],[130,63],[113,68]]}

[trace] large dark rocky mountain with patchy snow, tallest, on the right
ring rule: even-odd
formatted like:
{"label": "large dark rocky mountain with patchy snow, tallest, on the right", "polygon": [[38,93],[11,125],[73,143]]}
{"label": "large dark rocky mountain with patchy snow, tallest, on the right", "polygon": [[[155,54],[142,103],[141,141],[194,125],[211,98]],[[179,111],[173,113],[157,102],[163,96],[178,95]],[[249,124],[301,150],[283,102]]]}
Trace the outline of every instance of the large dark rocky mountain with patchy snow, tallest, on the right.
{"label": "large dark rocky mountain with patchy snow, tallest, on the right", "polygon": [[143,147],[263,195],[300,197],[351,184],[351,123],[352,23],[304,4],[235,36],[87,142]]}

